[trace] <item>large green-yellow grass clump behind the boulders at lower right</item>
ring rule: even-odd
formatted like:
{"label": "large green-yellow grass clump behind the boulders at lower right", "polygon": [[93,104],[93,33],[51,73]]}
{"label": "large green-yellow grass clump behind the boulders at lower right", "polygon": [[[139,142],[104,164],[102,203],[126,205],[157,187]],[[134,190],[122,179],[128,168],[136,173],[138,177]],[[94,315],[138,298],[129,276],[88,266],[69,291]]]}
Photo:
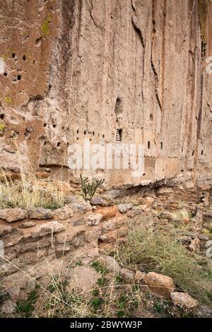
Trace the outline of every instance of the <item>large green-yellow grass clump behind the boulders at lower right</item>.
{"label": "large green-yellow grass clump behind the boulders at lower right", "polygon": [[201,302],[209,302],[208,276],[177,237],[161,230],[136,230],[117,252],[123,266],[170,276],[180,290],[189,292]]}

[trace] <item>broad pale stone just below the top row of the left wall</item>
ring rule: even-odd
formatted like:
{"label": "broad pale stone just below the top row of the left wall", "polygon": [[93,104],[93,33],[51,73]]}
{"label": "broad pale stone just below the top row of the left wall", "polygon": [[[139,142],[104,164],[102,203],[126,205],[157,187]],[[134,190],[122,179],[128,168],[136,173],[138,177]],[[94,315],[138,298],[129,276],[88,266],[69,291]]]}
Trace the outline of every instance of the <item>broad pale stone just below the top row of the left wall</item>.
{"label": "broad pale stone just below the top row of the left wall", "polygon": [[43,237],[48,234],[54,234],[65,230],[66,226],[58,223],[57,221],[49,221],[48,223],[44,223],[42,225],[37,225],[35,230],[32,232],[32,237]]}

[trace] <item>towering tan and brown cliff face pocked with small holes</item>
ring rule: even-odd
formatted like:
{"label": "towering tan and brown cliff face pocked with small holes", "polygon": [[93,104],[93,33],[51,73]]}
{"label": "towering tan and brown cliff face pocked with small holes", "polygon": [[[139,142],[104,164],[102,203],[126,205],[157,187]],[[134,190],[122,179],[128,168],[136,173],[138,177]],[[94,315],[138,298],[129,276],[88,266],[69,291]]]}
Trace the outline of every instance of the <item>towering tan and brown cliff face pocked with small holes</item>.
{"label": "towering tan and brown cliff face pocked with small holes", "polygon": [[[0,1],[0,167],[17,146],[68,180],[71,143],[143,143],[145,174],[109,185],[209,177],[212,1]],[[89,172],[88,172],[89,173]]]}

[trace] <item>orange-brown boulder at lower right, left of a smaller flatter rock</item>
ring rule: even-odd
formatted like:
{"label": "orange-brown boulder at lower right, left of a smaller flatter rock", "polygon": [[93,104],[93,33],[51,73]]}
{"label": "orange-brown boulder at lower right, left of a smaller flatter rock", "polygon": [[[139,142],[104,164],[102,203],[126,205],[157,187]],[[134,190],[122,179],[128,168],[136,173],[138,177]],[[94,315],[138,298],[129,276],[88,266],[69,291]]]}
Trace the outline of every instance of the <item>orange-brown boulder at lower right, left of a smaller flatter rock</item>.
{"label": "orange-brown boulder at lower right, left of a smaller flatter rock", "polygon": [[148,285],[151,292],[166,298],[170,298],[170,293],[175,290],[172,278],[167,277],[167,275],[148,272],[143,278],[143,282]]}

